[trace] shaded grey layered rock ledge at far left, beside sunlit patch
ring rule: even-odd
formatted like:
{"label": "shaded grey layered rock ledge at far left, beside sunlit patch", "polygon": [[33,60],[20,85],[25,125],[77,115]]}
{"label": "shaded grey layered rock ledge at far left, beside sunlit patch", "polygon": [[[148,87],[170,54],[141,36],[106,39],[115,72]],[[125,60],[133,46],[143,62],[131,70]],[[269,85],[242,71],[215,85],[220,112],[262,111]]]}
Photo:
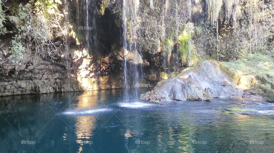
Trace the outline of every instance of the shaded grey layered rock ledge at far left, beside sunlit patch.
{"label": "shaded grey layered rock ledge at far left, beside sunlit patch", "polygon": [[82,90],[80,84],[67,78],[64,66],[44,59],[39,63],[1,66],[0,96]]}

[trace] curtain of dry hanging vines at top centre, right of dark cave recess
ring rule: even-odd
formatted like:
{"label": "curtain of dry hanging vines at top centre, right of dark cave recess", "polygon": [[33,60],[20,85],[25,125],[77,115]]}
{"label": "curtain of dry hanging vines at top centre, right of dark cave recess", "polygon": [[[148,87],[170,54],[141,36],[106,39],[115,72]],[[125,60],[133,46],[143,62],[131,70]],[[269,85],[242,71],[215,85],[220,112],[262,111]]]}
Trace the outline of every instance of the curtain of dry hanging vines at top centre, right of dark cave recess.
{"label": "curtain of dry hanging vines at top centre, right of dark cave recess", "polygon": [[125,0],[124,12],[118,9],[126,23],[126,38],[148,53],[162,51],[164,55],[170,55],[170,41],[178,40],[178,33],[182,33],[189,18],[186,16],[188,2],[154,0],[153,5],[151,2]]}

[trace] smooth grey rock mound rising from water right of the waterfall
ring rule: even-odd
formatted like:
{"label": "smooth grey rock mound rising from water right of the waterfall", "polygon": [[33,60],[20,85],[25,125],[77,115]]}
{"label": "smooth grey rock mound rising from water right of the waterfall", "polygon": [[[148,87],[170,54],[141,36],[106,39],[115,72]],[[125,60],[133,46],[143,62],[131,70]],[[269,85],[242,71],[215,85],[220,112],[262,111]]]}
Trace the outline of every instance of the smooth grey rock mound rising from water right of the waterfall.
{"label": "smooth grey rock mound rising from water right of the waterfall", "polygon": [[215,62],[204,61],[196,68],[182,72],[175,78],[160,82],[154,90],[141,95],[150,102],[170,100],[210,100],[229,97],[242,91]]}

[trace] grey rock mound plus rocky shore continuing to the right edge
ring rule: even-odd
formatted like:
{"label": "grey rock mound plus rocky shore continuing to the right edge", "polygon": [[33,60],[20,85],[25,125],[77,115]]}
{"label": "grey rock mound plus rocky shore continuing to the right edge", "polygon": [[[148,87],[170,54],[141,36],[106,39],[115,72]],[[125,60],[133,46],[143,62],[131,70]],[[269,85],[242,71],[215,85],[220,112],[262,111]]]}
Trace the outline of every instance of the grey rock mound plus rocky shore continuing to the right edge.
{"label": "grey rock mound plus rocky shore continuing to the right edge", "polygon": [[[229,74],[232,73],[232,74]],[[267,102],[274,101],[274,90],[256,92],[260,80],[241,81],[246,76],[235,76],[234,72],[216,61],[203,61],[196,67],[183,71],[178,76],[159,82],[154,90],[142,94],[140,98],[149,102],[161,103],[172,100],[201,100],[241,95]],[[251,83],[252,86],[250,85]],[[249,88],[246,88],[249,86]],[[243,88],[245,87],[245,88]]]}

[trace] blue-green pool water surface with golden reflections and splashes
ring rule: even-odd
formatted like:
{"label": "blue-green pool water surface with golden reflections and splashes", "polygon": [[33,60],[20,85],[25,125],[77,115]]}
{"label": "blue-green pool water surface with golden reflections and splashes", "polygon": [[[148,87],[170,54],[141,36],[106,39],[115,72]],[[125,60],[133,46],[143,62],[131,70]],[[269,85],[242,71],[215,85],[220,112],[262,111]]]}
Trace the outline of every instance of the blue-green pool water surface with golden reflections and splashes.
{"label": "blue-green pool water surface with golden reflections and splashes", "polygon": [[1,97],[0,152],[274,152],[273,103],[227,98],[158,105],[125,103],[122,95]]}

